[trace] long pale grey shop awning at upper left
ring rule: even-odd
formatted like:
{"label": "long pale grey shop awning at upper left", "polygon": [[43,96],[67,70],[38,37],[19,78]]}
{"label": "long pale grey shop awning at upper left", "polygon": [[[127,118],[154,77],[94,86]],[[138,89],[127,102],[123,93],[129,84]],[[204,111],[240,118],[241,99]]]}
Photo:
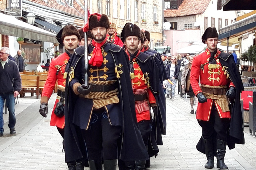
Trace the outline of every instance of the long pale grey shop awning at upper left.
{"label": "long pale grey shop awning at upper left", "polygon": [[58,43],[56,34],[17,20],[15,17],[3,13],[0,13],[0,34]]}

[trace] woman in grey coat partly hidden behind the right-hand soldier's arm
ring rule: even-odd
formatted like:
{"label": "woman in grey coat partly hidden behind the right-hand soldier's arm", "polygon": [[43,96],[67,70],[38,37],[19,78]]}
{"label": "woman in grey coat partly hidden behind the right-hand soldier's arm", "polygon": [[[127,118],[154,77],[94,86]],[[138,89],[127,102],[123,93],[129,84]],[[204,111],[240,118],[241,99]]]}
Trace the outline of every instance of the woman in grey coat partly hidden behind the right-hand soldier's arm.
{"label": "woman in grey coat partly hidden behind the right-hand soldier's arm", "polygon": [[[195,55],[189,56],[189,63],[186,64],[183,68],[182,75],[181,75],[181,88],[182,88],[182,94],[187,93],[190,97],[190,106],[191,106],[191,114],[194,114],[194,102],[197,101],[197,98],[195,97],[195,94],[192,90],[191,84],[190,84],[190,73],[191,73],[191,64],[193,62],[193,58]],[[196,108],[197,108],[197,102],[196,102]]]}

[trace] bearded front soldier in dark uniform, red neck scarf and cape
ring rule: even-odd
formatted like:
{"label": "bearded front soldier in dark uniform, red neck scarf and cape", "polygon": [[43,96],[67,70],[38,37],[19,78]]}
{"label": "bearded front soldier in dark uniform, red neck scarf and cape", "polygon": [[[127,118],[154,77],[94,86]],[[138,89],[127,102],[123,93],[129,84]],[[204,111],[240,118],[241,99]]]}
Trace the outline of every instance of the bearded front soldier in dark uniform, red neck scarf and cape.
{"label": "bearded front soldier in dark uniform, red neck scarf and cape", "polygon": [[[84,84],[84,46],[75,50],[66,68],[65,137],[69,140],[65,140],[65,145],[76,145],[75,127],[79,127],[86,142],[90,170],[102,170],[102,155],[104,170],[115,170],[117,159],[148,159],[136,120],[128,56],[120,46],[106,41],[109,26],[106,15],[95,13],[83,29],[93,35],[88,46],[89,86]],[[66,161],[68,155],[76,152],[82,155],[81,150],[65,151]]]}

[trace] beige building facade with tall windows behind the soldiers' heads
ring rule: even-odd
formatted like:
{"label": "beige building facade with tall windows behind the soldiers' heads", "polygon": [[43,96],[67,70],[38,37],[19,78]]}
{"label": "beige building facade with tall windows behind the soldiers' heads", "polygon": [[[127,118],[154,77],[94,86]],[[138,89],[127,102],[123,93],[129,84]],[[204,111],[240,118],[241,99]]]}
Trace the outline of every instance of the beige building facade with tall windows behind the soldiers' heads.
{"label": "beige building facade with tall windows behind the soldiers' heads", "polygon": [[[90,8],[90,0],[88,0],[88,9],[91,9],[91,14],[97,13],[98,1],[91,0],[92,7]],[[106,14],[106,2],[108,0],[101,0],[102,14]],[[120,34],[125,23],[130,22],[136,24],[140,29],[150,32],[151,43],[150,47],[153,48],[156,42],[162,42],[162,20],[163,20],[163,7],[162,0],[130,0],[130,19],[128,18],[127,11],[129,10],[127,5],[128,0],[109,0],[110,2],[110,15],[109,21],[117,24],[117,32]],[[117,6],[114,4],[117,2]],[[121,17],[121,2],[124,2],[124,18]],[[135,21],[135,2],[138,3],[138,21]],[[145,20],[142,22],[142,4],[145,5]],[[154,6],[157,8],[155,12],[157,14],[157,20],[154,22]],[[113,17],[114,10],[117,10],[117,17]],[[158,22],[158,24],[157,24]]]}

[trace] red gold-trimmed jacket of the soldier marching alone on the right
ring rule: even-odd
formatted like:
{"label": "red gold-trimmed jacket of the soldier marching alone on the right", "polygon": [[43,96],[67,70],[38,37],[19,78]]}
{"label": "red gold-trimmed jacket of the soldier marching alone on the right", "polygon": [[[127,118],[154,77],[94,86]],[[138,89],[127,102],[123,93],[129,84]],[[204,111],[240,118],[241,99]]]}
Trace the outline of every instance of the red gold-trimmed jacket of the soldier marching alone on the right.
{"label": "red gold-trimmed jacket of the soldier marching alone on the right", "polygon": [[[219,54],[220,54],[220,51],[217,50],[216,57],[218,57]],[[231,82],[228,75],[224,74],[225,70],[223,69],[218,58],[215,57],[216,58],[215,60],[217,63],[216,69],[209,69],[208,68],[209,63],[204,65],[204,69],[200,69],[201,64],[207,63],[210,57],[211,57],[211,52],[206,48],[205,52],[195,56],[192,62],[191,73],[190,73],[190,84],[192,86],[192,89],[195,95],[202,92],[198,84],[199,78],[200,78],[200,83],[204,85],[227,86],[228,88],[230,86],[234,86],[234,84]],[[220,118],[231,118],[230,112],[222,112],[220,106],[215,102],[215,100],[207,99],[207,102],[205,103],[198,103],[196,119],[209,121],[213,102],[215,103],[215,106],[217,108]]]}

